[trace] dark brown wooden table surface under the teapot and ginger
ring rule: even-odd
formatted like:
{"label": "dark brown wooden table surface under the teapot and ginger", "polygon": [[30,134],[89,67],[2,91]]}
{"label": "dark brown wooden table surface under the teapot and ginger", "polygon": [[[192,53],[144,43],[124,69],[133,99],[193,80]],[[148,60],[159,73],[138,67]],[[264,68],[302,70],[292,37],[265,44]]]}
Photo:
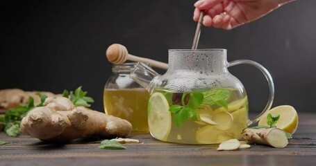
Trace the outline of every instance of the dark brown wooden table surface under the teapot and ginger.
{"label": "dark brown wooden table surface under the teapot and ginger", "polygon": [[179,145],[160,142],[149,134],[132,134],[139,144],[125,150],[98,149],[101,140],[47,145],[28,136],[0,133],[0,165],[316,165],[316,113],[299,113],[299,127],[281,149],[251,145],[250,149],[217,151],[218,145]]}

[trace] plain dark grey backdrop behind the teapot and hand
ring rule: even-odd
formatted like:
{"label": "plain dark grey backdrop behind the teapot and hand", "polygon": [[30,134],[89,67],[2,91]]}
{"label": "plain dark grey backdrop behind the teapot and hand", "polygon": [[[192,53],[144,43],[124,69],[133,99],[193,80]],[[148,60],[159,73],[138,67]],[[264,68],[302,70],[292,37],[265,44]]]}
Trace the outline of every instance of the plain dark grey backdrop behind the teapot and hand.
{"label": "plain dark grey backdrop behind the teapot and hand", "polygon": [[[62,93],[83,86],[103,111],[113,43],[167,62],[169,48],[190,48],[194,1],[1,1],[0,89]],[[203,27],[199,48],[227,48],[228,61],[251,59],[274,78],[273,106],[315,111],[316,1],[295,1],[226,31]],[[158,70],[160,73],[163,71]],[[250,111],[265,106],[265,77],[251,66],[229,71],[243,82]]]}

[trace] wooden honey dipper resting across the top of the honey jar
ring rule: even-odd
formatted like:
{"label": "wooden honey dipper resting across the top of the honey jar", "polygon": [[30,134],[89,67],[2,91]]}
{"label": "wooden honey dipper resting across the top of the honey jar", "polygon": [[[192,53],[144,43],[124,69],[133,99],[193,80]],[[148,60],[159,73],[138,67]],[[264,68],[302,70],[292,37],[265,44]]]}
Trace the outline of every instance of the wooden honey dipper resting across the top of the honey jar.
{"label": "wooden honey dipper resting across the top of the honey jar", "polygon": [[168,69],[168,64],[166,63],[128,54],[126,47],[122,44],[110,45],[108,49],[106,49],[106,57],[108,58],[108,61],[113,64],[123,64],[124,62],[126,62],[126,60],[130,60],[133,62],[144,62],[156,68],[163,68],[165,70]]}

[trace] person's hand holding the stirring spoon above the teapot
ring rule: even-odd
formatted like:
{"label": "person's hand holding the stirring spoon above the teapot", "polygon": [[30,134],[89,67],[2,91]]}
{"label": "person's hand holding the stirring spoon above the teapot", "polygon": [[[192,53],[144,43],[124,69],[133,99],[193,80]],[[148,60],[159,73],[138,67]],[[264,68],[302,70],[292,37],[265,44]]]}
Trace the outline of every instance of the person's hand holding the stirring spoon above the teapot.
{"label": "person's hand holding the stirring spoon above the teapot", "polygon": [[204,10],[203,25],[231,30],[254,21],[293,0],[200,0],[194,3],[194,21]]}

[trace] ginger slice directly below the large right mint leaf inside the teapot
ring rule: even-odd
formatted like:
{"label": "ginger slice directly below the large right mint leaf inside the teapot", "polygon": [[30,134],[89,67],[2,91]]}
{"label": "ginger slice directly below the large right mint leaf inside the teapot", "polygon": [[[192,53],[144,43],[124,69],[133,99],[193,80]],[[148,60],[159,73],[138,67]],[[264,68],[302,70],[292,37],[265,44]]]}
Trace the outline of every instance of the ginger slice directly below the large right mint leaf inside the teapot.
{"label": "ginger slice directly below the large right mint leaf inside the teapot", "polygon": [[215,127],[219,130],[228,130],[233,126],[233,116],[228,112],[214,113],[212,120],[217,124]]}

